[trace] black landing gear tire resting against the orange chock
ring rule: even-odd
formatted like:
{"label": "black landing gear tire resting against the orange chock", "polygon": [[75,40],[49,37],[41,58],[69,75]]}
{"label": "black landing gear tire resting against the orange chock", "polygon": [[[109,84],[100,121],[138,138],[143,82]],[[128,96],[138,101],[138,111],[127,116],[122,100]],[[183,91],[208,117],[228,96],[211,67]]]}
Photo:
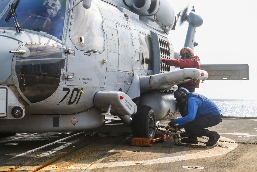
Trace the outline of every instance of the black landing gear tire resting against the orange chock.
{"label": "black landing gear tire resting against the orange chock", "polygon": [[156,119],[153,109],[149,106],[140,106],[134,114],[132,121],[133,137],[154,138],[156,130],[149,126],[155,126]]}

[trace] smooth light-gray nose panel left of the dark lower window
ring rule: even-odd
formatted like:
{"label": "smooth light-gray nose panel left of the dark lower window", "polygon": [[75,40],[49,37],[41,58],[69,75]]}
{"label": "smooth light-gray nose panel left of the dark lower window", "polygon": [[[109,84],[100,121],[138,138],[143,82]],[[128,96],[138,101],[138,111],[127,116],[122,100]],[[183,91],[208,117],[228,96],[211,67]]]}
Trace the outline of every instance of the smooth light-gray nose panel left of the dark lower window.
{"label": "smooth light-gray nose panel left of the dark lower window", "polygon": [[19,43],[15,39],[11,39],[6,36],[0,35],[0,84],[3,84],[12,74],[12,60],[14,54],[9,53],[11,50],[17,50],[19,47]]}

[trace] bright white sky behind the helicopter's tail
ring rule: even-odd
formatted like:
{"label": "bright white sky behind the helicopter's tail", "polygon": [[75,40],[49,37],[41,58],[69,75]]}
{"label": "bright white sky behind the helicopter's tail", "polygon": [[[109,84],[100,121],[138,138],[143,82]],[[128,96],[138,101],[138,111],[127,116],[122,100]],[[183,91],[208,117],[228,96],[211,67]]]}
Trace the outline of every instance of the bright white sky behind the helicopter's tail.
{"label": "bright white sky behind the helicopter's tail", "polygon": [[[177,14],[186,6],[188,14],[195,12],[203,18],[203,24],[196,28],[194,48],[201,64],[248,64],[249,80],[206,80],[195,92],[208,98],[257,100],[255,75],[257,74],[257,1],[206,1],[172,0]],[[169,37],[176,52],[184,46],[188,23],[177,23]],[[256,52],[256,54],[255,54]]]}

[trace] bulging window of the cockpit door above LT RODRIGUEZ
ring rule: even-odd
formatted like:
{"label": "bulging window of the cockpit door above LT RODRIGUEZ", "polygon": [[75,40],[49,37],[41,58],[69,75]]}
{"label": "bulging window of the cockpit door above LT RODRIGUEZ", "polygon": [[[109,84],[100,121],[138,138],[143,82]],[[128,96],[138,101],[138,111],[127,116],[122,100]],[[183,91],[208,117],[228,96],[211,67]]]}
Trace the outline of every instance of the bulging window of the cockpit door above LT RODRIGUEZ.
{"label": "bulging window of the cockpit door above LT RODRIGUEZ", "polygon": [[[71,40],[79,50],[93,49],[98,52],[104,50],[104,32],[102,27],[102,15],[92,1],[91,7],[85,9],[82,3],[78,4],[75,16],[71,21]],[[84,43],[80,41],[84,37]]]}

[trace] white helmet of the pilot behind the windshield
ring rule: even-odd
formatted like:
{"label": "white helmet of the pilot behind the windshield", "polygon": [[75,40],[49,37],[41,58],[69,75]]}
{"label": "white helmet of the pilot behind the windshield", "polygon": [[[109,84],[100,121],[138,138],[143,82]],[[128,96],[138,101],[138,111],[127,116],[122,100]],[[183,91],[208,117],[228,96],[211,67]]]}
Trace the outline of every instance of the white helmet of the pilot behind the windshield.
{"label": "white helmet of the pilot behind the windshield", "polygon": [[45,0],[42,6],[44,12],[51,17],[55,17],[58,14],[59,10],[62,8],[59,0]]}

